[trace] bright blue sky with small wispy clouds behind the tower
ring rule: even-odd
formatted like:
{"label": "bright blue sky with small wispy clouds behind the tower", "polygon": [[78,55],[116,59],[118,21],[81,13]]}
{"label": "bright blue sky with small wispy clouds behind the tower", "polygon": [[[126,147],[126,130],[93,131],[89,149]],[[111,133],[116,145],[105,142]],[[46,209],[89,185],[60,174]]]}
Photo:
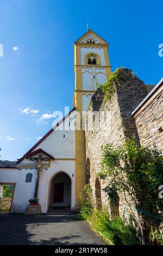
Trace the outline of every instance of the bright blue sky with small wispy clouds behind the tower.
{"label": "bright blue sky with small wispy clouds behind the tower", "polygon": [[[16,160],[51,129],[53,111],[73,107],[73,42],[86,24],[109,42],[112,71],[145,83],[162,77],[162,1],[0,0],[0,147]],[[24,110],[26,109],[26,110]],[[24,111],[23,111],[24,110]]]}

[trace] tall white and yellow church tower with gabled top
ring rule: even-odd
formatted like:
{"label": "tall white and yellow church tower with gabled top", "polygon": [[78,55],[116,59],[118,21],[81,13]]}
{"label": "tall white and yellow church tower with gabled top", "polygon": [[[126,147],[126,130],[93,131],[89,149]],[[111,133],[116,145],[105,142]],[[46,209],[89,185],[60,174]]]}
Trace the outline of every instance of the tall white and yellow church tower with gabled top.
{"label": "tall white and yellow church tower with gabled top", "polygon": [[82,111],[86,111],[99,84],[111,74],[109,44],[89,29],[74,43],[75,90],[74,107],[80,113],[76,122],[76,208],[85,184],[85,143],[82,130]]}

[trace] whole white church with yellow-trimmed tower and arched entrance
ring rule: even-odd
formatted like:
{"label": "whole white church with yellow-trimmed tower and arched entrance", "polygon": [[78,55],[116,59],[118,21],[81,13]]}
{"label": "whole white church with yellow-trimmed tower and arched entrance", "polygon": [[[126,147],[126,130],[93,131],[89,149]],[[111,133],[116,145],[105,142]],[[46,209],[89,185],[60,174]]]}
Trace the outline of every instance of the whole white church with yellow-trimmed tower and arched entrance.
{"label": "whole white church with yellow-trimmed tower and arched entrance", "polygon": [[[82,113],[111,74],[108,46],[91,30],[74,43],[74,108],[17,162],[0,161],[0,204],[3,186],[12,186],[10,212],[24,212],[34,197],[39,198],[43,213],[49,205],[79,208],[85,184]],[[76,119],[76,129],[60,129],[70,126],[77,112],[81,118]]]}

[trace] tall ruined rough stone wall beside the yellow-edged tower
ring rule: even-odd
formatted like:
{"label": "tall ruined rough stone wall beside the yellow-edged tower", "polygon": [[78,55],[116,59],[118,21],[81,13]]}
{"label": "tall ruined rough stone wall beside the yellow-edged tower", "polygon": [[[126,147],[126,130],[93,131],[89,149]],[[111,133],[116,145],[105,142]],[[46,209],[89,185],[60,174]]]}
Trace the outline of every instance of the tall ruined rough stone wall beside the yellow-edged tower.
{"label": "tall ruined rough stone wall beside the yellow-edged tower", "polygon": [[[133,135],[139,143],[135,120],[131,112],[146,97],[147,88],[129,69],[124,69],[123,78],[120,87],[115,84],[116,92],[108,101],[104,100],[104,94],[101,89],[98,89],[92,96],[86,114],[86,182],[90,183],[92,198],[97,206],[108,205],[108,196],[103,191],[105,184],[97,176],[101,170],[104,145],[111,143],[117,148],[123,144],[126,137]],[[99,117],[101,117],[100,122]],[[126,205],[124,198],[121,194],[119,197],[120,215],[123,215],[124,209],[125,215],[130,214],[130,208]]]}

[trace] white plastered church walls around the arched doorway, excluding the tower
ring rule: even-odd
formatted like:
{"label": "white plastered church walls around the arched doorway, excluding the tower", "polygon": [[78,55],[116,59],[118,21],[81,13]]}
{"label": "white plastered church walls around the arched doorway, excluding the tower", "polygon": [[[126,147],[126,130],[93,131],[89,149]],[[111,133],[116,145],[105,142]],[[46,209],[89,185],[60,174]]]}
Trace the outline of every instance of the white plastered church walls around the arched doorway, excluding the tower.
{"label": "white plastered church walls around the arched doorway, excluding the tower", "polygon": [[[67,118],[63,123],[68,124],[69,121]],[[55,130],[36,149],[39,148],[45,150],[55,158],[55,160],[51,161],[51,167],[47,170],[43,169],[40,176],[38,197],[42,212],[47,212],[48,209],[51,178],[59,171],[68,174],[72,180],[71,208],[73,208],[75,205],[75,160],[72,159],[75,159],[75,131]],[[57,158],[62,160],[57,160]],[[21,164],[31,166],[32,163],[34,162],[30,159],[24,159],[20,163],[20,166]],[[32,182],[26,182],[27,173],[33,174]],[[0,182],[16,182],[12,212],[23,212],[29,204],[28,200],[34,197],[36,169],[26,169],[23,166],[21,170],[0,168]]]}

